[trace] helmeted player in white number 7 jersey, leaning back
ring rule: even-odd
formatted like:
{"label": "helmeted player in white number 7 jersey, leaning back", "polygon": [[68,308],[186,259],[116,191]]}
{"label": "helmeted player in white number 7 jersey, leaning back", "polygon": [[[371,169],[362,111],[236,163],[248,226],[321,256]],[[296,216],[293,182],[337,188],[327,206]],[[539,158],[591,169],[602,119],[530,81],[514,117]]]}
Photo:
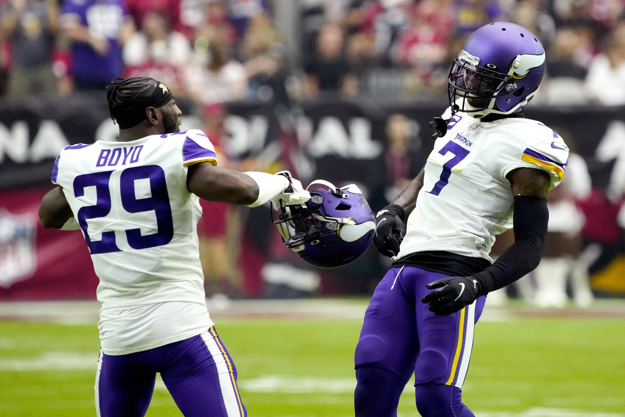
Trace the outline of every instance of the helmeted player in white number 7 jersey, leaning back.
{"label": "helmeted player in white number 7 jersey, leaning back", "polygon": [[[394,263],[356,346],[357,417],[397,416],[413,373],[421,416],[474,416],[461,398],[474,324],[488,292],[538,265],[547,194],[564,178],[566,144],[522,115],[544,70],[536,36],[505,22],[477,29],[454,60],[434,149],[376,216],[374,245]],[[514,244],[492,262],[495,235],[511,227]]]}

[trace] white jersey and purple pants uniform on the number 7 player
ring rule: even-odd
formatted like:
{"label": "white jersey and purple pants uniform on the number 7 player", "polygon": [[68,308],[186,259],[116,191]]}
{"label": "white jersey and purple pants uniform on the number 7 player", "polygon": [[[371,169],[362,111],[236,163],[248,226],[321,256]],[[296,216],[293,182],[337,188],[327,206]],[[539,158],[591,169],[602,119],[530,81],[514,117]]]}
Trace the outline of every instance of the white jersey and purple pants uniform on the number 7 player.
{"label": "white jersey and purple pants uniform on the number 7 player", "polygon": [[[486,299],[480,297],[451,316],[434,316],[421,302],[431,291],[426,284],[470,275],[491,264],[495,236],[512,227],[509,172],[521,167],[544,170],[553,188],[564,178],[568,158],[562,138],[535,120],[481,122],[458,112],[447,129],[427,158],[406,236],[372,296],[355,354],[356,369],[386,369],[404,384],[414,372],[417,403],[421,384],[427,384],[424,390],[432,384],[449,386],[457,393],[454,401],[460,401],[474,324]],[[454,415],[472,414],[464,408]]]}

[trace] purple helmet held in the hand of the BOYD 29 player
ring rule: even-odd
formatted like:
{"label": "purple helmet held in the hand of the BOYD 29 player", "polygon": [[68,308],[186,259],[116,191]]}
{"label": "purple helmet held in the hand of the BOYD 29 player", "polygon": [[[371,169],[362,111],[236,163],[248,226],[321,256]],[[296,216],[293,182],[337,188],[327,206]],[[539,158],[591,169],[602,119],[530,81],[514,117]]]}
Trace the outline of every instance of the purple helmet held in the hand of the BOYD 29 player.
{"label": "purple helmet held in the hand of the BOYD 29 player", "polygon": [[306,203],[279,207],[274,224],[284,244],[317,268],[356,260],[371,244],[376,227],[361,190],[354,184],[337,188],[324,180],[306,189],[311,193]]}

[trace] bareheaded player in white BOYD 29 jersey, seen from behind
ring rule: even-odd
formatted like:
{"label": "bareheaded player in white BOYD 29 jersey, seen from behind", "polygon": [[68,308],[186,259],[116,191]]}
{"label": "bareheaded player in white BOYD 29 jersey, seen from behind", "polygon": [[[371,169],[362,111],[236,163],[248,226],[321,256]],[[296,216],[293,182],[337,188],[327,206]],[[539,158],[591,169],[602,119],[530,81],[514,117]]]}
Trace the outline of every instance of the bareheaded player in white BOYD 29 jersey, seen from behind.
{"label": "bareheaded player in white BOYD 29 jersey, seen from behind", "polygon": [[184,416],[246,416],[206,309],[198,197],[256,207],[310,195],[288,172],[217,167],[202,131],[179,131],[181,111],[159,81],[117,78],[106,95],[118,142],[61,151],[58,187],[39,208],[44,227],[82,230],[100,279],[97,414],[143,416],[160,373]]}

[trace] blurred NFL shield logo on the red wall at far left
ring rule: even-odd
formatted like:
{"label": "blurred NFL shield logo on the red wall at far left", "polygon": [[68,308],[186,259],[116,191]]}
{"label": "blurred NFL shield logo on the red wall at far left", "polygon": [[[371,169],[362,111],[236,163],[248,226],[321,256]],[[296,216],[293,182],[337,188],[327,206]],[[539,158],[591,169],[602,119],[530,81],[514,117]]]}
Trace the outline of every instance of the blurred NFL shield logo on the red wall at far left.
{"label": "blurred NFL shield logo on the red wall at far left", "polygon": [[34,272],[35,221],[32,215],[0,209],[0,286],[8,288]]}

